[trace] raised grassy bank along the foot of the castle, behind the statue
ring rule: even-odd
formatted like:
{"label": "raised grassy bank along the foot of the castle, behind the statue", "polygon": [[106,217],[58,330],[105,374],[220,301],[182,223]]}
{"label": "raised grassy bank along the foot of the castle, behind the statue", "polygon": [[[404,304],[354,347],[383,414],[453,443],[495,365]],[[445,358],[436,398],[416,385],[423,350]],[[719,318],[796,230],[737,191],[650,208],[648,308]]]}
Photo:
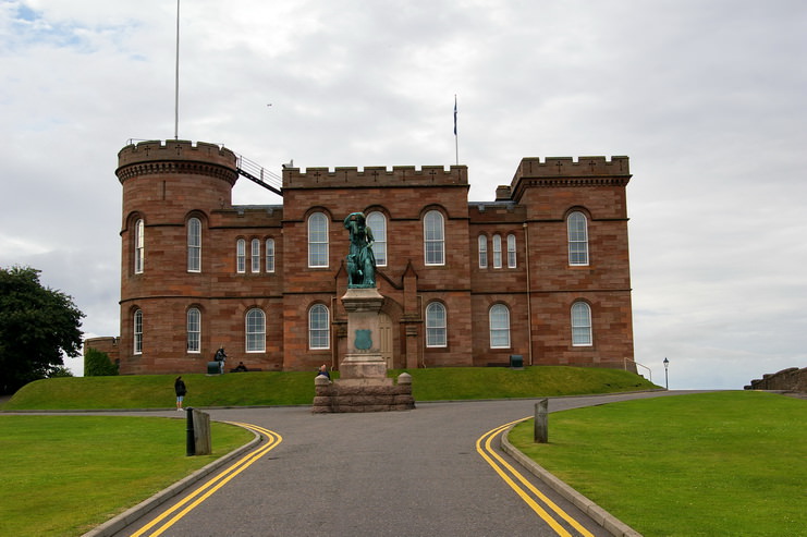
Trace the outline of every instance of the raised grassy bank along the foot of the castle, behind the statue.
{"label": "raised grassy bank along the foot of the castle, behind the statue", "polygon": [[[390,370],[396,377],[404,370]],[[659,389],[621,369],[536,366],[406,369],[415,401],[516,399]],[[310,404],[314,371],[182,375],[186,406]],[[68,377],[24,386],[1,410],[167,408],[174,405],[175,375]],[[334,374],[333,378],[339,378]]]}

